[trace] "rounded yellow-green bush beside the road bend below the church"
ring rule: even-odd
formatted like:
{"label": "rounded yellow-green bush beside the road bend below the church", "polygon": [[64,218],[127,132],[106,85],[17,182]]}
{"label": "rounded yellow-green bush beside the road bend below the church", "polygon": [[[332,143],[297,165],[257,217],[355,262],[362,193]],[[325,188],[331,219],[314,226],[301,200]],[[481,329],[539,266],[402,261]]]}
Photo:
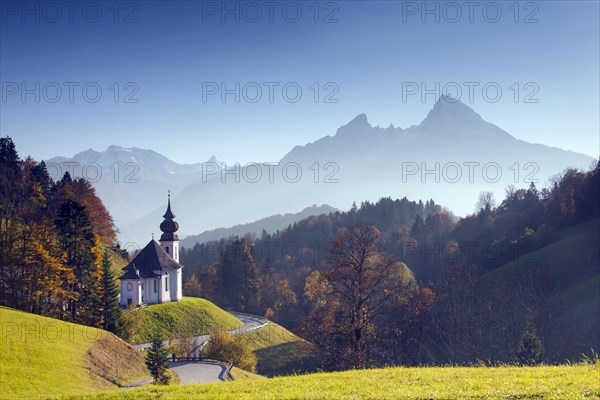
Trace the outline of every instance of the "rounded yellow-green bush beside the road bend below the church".
{"label": "rounded yellow-green bush beside the road bend below the church", "polygon": [[239,335],[227,332],[214,332],[210,341],[202,349],[202,356],[213,360],[230,362],[238,368],[254,372],[256,357],[246,341]]}

